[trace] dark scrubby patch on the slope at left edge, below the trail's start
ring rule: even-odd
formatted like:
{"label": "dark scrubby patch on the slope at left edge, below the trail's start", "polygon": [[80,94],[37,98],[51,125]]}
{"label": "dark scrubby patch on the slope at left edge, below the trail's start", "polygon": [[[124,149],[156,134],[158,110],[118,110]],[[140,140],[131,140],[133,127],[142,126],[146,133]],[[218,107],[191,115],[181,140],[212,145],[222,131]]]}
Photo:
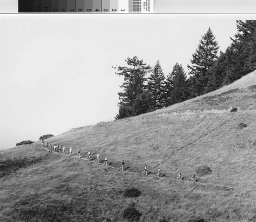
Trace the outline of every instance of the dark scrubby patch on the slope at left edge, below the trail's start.
{"label": "dark scrubby patch on the slope at left edge, below the trail's start", "polygon": [[40,162],[42,157],[33,156],[18,156],[14,158],[0,156],[0,178],[5,175],[10,175],[19,168],[27,167],[28,165]]}

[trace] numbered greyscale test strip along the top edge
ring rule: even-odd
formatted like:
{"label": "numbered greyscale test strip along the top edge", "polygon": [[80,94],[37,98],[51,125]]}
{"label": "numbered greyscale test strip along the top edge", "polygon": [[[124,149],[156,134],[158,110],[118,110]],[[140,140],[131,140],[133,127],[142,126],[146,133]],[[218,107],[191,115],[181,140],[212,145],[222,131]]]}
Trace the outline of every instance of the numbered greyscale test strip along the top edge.
{"label": "numbered greyscale test strip along the top edge", "polygon": [[18,0],[19,13],[153,13],[154,0]]}

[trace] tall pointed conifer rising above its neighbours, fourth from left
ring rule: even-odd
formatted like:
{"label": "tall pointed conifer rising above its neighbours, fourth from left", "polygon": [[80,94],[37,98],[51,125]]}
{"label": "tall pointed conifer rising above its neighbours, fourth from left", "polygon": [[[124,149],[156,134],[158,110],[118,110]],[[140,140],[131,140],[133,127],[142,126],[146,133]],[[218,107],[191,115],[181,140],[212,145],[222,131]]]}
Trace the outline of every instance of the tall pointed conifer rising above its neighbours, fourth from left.
{"label": "tall pointed conifer rising above its neighbours, fourth from left", "polygon": [[209,80],[207,71],[214,65],[217,60],[218,42],[215,40],[211,29],[202,36],[196,53],[191,59],[192,65],[187,65],[190,70],[190,91],[193,97],[202,95],[206,91],[206,85]]}

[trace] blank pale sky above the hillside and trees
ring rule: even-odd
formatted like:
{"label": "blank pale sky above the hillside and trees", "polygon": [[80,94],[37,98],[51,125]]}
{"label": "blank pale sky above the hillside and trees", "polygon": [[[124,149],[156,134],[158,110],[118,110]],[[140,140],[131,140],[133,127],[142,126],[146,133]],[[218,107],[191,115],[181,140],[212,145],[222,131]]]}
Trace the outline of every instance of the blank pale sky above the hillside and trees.
{"label": "blank pale sky above the hillside and trees", "polygon": [[112,66],[136,55],[165,75],[187,70],[209,27],[225,51],[247,17],[0,14],[0,149],[113,120],[123,79]]}

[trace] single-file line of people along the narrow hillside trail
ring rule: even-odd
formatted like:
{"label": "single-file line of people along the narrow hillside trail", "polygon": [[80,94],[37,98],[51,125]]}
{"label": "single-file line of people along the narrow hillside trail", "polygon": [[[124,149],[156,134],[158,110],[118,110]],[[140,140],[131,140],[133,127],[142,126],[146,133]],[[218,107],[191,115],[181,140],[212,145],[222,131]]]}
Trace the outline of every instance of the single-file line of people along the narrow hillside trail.
{"label": "single-file line of people along the narrow hillside trail", "polygon": [[[66,147],[65,146],[59,146],[58,144],[49,144],[47,141],[44,143],[44,140],[42,140],[42,142],[41,142],[41,147],[44,147],[44,144],[45,144],[45,148],[48,148],[49,149],[49,152],[59,152],[59,153],[61,153],[62,152],[62,154],[64,154],[65,153],[65,150],[66,150]],[[72,146],[69,148],[69,156],[71,156],[71,154],[72,154],[72,150],[73,150],[73,148],[72,148]],[[77,156],[80,158],[80,153],[81,153],[81,148],[79,147],[78,148],[78,150],[77,150]],[[88,153],[87,153],[87,160],[88,161],[90,161],[90,158],[91,158],[91,151],[89,151]],[[96,163],[98,162],[99,163],[99,153],[97,154],[97,156],[96,156],[96,161],[95,161]],[[105,157],[105,159],[104,159],[104,163],[103,163],[103,165],[108,165],[108,157]],[[121,167],[120,168],[122,168],[122,171],[123,171],[123,167],[124,167],[124,160],[122,160],[122,162],[121,162]],[[145,167],[144,167],[144,171],[141,173],[141,174],[143,174],[143,173],[146,173],[146,175],[148,175],[148,171],[147,171],[147,165],[145,165]],[[161,167],[158,169],[158,173],[157,173],[157,175],[158,175],[158,177],[161,177],[161,174],[162,174],[162,170],[161,170]],[[181,171],[179,172],[179,174],[178,174],[178,177],[177,177],[177,179],[178,179],[178,181],[180,181],[180,180],[182,180],[182,174],[181,174]],[[193,182],[196,182],[196,172],[194,172],[193,173],[193,175],[192,175],[192,178],[191,178],[191,180],[193,181]]]}

